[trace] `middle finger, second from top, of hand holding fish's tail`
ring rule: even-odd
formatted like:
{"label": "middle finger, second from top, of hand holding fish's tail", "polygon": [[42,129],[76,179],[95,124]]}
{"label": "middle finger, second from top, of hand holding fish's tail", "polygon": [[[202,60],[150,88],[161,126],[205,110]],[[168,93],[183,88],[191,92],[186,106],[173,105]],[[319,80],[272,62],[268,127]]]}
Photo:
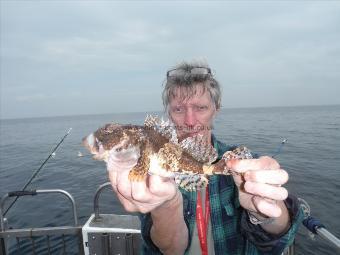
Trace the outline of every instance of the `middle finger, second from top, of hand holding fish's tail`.
{"label": "middle finger, second from top, of hand holding fish's tail", "polygon": [[245,181],[283,185],[288,181],[288,173],[283,170],[247,171],[243,175]]}

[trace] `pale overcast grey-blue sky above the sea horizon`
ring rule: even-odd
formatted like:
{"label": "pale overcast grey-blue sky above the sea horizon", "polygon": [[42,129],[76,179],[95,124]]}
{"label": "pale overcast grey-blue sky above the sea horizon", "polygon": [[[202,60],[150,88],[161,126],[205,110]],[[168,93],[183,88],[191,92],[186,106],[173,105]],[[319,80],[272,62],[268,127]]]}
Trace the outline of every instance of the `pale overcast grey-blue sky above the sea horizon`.
{"label": "pale overcast grey-blue sky above the sea horizon", "polygon": [[1,1],[1,118],[161,110],[205,59],[223,107],[340,104],[340,1]]}

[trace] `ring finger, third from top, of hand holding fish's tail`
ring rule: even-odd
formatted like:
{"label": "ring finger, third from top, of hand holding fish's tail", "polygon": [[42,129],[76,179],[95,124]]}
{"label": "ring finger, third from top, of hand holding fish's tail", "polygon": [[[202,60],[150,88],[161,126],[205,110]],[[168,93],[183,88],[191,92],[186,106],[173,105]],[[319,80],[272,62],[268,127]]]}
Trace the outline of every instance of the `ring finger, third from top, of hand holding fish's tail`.
{"label": "ring finger, third from top, of hand holding fish's tail", "polygon": [[264,183],[247,181],[244,183],[244,189],[250,194],[274,200],[284,200],[288,197],[288,191],[285,188]]}

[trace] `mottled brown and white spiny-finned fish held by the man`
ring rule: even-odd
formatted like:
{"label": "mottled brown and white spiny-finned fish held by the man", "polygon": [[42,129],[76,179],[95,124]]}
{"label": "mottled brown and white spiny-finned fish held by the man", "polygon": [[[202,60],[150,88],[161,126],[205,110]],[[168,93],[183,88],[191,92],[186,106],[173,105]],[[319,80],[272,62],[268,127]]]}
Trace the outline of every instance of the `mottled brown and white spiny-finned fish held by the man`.
{"label": "mottled brown and white spiny-finned fish held by the man", "polygon": [[215,162],[217,152],[206,139],[197,135],[178,140],[174,125],[168,120],[147,116],[144,126],[106,124],[83,139],[94,159],[108,163],[110,155],[132,150],[137,164],[129,173],[131,181],[141,181],[147,174],[172,177],[185,190],[206,187],[208,175],[237,174],[228,169],[226,160],[248,159],[252,154],[244,146],[224,153]]}

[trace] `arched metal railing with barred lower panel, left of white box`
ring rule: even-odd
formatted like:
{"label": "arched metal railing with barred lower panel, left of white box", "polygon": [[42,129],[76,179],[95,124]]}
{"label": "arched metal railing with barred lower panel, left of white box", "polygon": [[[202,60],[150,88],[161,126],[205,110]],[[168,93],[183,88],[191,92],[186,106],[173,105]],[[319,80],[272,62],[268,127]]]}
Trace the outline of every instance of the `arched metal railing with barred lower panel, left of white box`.
{"label": "arched metal railing with barred lower panel, left of white box", "polygon": [[[20,196],[35,196],[38,194],[47,194],[47,193],[59,193],[64,195],[70,202],[72,206],[73,212],[73,226],[58,226],[58,227],[42,227],[42,228],[21,228],[21,229],[7,229],[6,228],[6,220],[4,218],[4,205],[6,200],[11,197],[20,197]],[[15,191],[9,192],[5,194],[0,201],[0,255],[8,254],[8,248],[6,243],[10,240],[16,241],[15,252],[16,254],[19,252],[23,252],[22,242],[25,242],[25,249],[27,251],[27,239],[31,243],[31,254],[38,254],[38,247],[36,244],[36,240],[39,237],[40,243],[39,247],[41,246],[42,238],[46,239],[46,250],[47,254],[51,254],[55,247],[51,245],[51,237],[57,237],[58,242],[58,250],[61,250],[61,254],[66,254],[66,243],[70,237],[76,237],[78,239],[78,250],[79,254],[84,254],[83,246],[82,246],[82,233],[81,233],[81,226],[78,226],[78,216],[77,216],[77,209],[75,201],[71,194],[68,192],[61,190],[61,189],[46,189],[46,190],[33,190],[33,191]],[[11,247],[14,249],[14,247]]]}

